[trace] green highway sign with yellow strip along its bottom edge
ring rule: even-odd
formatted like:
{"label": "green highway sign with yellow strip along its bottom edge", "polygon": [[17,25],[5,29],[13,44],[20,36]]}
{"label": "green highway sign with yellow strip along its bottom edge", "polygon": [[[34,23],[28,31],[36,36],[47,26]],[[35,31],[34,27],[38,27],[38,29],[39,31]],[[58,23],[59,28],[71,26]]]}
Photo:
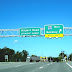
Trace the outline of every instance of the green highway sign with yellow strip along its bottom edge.
{"label": "green highway sign with yellow strip along its bottom edge", "polygon": [[63,37],[63,25],[45,25],[45,37]]}

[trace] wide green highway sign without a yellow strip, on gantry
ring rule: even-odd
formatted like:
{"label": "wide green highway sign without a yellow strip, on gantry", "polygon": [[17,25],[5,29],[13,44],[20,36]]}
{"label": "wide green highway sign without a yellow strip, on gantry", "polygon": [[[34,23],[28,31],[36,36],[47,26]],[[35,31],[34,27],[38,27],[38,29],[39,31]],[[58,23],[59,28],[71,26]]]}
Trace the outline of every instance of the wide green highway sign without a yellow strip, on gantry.
{"label": "wide green highway sign without a yellow strip, on gantry", "polygon": [[20,35],[36,36],[40,35],[40,28],[20,28]]}

